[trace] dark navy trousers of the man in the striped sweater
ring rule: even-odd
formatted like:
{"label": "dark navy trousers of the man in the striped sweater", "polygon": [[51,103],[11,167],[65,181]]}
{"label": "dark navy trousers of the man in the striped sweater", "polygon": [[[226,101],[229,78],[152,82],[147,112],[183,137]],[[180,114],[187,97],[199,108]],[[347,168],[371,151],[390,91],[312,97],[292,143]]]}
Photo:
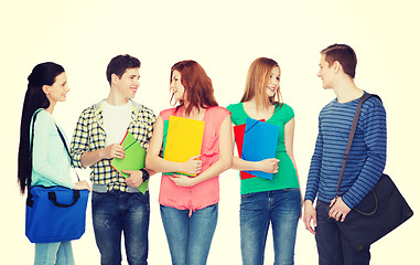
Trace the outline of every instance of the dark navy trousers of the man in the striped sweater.
{"label": "dark navy trousers of the man in the striped sweater", "polygon": [[330,203],[316,202],[315,240],[320,265],[364,265],[369,264],[369,247],[356,252],[347,240],[340,234],[334,219],[329,218]]}

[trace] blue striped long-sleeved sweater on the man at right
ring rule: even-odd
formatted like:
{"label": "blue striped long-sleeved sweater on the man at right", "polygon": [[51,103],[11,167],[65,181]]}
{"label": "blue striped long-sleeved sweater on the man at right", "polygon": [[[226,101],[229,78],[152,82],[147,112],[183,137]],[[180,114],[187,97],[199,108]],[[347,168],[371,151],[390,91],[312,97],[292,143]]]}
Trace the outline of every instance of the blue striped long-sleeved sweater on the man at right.
{"label": "blue striped long-sleeved sweater on the man at right", "polygon": [[[305,200],[330,203],[335,197],[343,156],[359,99],[338,103],[334,99],[320,113],[319,135],[309,171]],[[344,171],[340,194],[353,209],[378,182],[386,162],[386,113],[376,97],[362,106],[356,134]]]}

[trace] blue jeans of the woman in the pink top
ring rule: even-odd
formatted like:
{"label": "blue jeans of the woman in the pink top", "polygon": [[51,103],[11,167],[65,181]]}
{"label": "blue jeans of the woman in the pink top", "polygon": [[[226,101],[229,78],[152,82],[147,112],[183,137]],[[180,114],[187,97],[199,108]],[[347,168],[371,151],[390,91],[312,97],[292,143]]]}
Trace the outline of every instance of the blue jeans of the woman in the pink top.
{"label": "blue jeans of the woman in the pink top", "polygon": [[161,205],[163,227],[173,265],[206,264],[214,232],[218,204],[193,212]]}

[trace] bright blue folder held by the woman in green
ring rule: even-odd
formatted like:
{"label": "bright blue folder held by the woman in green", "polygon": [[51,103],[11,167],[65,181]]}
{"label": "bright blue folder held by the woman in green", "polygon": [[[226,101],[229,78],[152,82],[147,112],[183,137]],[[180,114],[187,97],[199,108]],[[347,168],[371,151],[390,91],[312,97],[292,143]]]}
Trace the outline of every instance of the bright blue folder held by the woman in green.
{"label": "bright blue folder held by the woman in green", "polygon": [[[267,158],[276,158],[279,132],[280,127],[277,125],[247,118],[241,158],[247,161],[260,161]],[[262,171],[245,172],[270,180],[273,177],[272,173]]]}

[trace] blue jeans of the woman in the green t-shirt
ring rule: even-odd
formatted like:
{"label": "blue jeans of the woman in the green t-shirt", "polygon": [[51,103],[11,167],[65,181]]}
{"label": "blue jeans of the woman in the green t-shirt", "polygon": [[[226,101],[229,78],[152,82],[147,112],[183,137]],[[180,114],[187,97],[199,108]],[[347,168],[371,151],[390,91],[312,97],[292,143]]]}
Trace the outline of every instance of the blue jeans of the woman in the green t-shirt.
{"label": "blue jeans of the woman in the green t-shirt", "polygon": [[299,189],[243,194],[240,200],[243,264],[263,264],[270,222],[274,244],[274,264],[293,264],[300,214],[301,194]]}

